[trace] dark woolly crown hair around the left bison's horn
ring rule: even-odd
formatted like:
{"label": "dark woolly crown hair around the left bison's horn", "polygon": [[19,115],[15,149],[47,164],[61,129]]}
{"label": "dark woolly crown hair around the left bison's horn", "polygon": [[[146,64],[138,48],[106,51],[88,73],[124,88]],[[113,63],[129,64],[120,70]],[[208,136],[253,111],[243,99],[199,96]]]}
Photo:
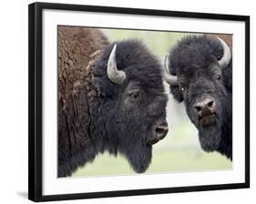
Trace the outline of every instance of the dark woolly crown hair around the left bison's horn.
{"label": "dark woolly crown hair around the left bison's horn", "polygon": [[[118,70],[123,70],[127,74],[127,80],[123,86],[116,86],[108,79],[107,75],[108,58],[115,44],[117,44]],[[141,87],[163,91],[159,60],[139,40],[126,40],[110,44],[98,60],[94,76],[104,79],[104,87],[107,88],[102,87],[104,89],[102,91],[112,96],[118,89],[126,87],[131,80],[138,81]]]}

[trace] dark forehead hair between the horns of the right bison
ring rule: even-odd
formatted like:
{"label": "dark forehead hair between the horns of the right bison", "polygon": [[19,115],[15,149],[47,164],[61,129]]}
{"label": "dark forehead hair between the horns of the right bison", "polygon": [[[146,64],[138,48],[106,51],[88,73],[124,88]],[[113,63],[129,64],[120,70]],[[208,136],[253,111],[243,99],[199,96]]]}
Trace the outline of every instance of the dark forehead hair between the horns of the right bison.
{"label": "dark forehead hair between the horns of the right bison", "polygon": [[172,74],[193,75],[208,69],[223,56],[220,41],[209,36],[185,36],[171,49],[169,66]]}

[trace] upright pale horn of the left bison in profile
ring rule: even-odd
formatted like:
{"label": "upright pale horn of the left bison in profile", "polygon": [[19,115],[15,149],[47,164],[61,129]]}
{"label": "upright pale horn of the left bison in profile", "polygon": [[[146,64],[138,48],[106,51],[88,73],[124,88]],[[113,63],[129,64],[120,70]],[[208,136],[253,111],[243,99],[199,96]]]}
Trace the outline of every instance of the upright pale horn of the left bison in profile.
{"label": "upright pale horn of the left bison in profile", "polygon": [[114,82],[115,84],[122,84],[126,79],[126,73],[122,70],[118,70],[117,62],[116,62],[116,50],[117,44],[113,47],[110,56],[108,58],[108,78]]}

